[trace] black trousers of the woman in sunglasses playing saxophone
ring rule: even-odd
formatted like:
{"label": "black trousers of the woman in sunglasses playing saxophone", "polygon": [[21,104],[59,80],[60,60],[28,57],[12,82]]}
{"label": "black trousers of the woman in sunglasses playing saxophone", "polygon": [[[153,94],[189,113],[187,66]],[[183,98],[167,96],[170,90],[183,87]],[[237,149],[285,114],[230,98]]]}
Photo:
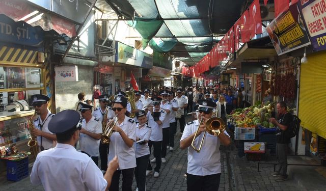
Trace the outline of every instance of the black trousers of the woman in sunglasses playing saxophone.
{"label": "black trousers of the woman in sunglasses playing saxophone", "polygon": [[117,170],[112,177],[110,191],[119,191],[119,179],[122,172],[122,191],[131,191],[134,168]]}

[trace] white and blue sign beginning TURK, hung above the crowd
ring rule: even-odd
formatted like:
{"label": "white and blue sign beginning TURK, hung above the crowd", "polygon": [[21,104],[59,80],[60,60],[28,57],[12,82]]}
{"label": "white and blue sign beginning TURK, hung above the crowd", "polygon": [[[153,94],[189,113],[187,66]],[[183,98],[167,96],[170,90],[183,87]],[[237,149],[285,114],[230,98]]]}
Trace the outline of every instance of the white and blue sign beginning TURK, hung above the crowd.
{"label": "white and blue sign beginning TURK, hung above the crowd", "polygon": [[118,49],[118,54],[115,58],[116,62],[152,69],[153,57],[150,54],[137,50],[121,42],[117,42],[116,47]]}

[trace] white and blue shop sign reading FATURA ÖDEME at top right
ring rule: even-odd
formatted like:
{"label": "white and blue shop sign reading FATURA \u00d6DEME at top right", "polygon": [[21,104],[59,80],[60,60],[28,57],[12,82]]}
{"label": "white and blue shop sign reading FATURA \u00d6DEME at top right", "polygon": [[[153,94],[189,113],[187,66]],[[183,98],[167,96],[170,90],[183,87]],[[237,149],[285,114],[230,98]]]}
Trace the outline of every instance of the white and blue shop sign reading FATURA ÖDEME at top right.
{"label": "white and blue shop sign reading FATURA \u00d6DEME at top right", "polygon": [[298,8],[303,16],[303,22],[309,33],[313,49],[326,49],[326,1],[300,1]]}

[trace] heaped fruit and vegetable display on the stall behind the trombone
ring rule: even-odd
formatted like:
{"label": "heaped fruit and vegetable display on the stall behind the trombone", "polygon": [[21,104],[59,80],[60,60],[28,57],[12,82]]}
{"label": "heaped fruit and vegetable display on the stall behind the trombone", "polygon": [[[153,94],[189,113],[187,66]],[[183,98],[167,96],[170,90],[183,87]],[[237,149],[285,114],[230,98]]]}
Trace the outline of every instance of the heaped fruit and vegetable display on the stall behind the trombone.
{"label": "heaped fruit and vegetable display on the stall behind the trombone", "polygon": [[271,118],[271,113],[274,111],[274,104],[275,103],[269,103],[262,107],[256,104],[256,106],[243,109],[237,108],[228,115],[228,119],[235,127],[253,128],[260,124],[265,128],[273,128],[275,125],[269,123],[268,120]]}

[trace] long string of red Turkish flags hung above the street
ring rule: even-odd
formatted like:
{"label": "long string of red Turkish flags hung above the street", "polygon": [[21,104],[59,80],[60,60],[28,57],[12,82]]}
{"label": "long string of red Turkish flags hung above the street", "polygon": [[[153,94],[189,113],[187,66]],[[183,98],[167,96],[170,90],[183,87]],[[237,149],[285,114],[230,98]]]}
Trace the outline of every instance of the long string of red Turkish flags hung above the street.
{"label": "long string of red Turkish flags hung above the street", "polygon": [[[291,0],[294,5],[298,0]],[[267,5],[268,0],[264,0]],[[290,0],[274,0],[275,17],[289,9]],[[262,33],[259,0],[254,0],[250,7],[234,23],[224,37],[203,57],[191,67],[182,67],[182,75],[199,77],[210,68],[219,66],[226,61],[228,54],[237,51],[242,44],[249,42],[256,34]]]}

